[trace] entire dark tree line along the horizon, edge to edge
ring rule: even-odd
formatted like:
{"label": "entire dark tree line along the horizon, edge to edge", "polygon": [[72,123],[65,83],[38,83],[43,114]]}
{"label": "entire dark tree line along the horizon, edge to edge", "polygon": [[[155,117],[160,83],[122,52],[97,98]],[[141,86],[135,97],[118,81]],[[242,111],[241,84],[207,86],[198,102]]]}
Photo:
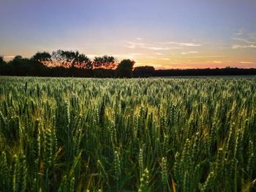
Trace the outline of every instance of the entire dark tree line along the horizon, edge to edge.
{"label": "entire dark tree line along the horizon, edge to edge", "polygon": [[135,61],[120,62],[113,56],[103,55],[91,60],[78,51],[56,50],[52,54],[37,52],[31,58],[16,55],[11,61],[0,56],[0,75],[39,77],[168,77],[203,75],[255,75],[256,69],[165,69],[154,66],[135,67]]}

